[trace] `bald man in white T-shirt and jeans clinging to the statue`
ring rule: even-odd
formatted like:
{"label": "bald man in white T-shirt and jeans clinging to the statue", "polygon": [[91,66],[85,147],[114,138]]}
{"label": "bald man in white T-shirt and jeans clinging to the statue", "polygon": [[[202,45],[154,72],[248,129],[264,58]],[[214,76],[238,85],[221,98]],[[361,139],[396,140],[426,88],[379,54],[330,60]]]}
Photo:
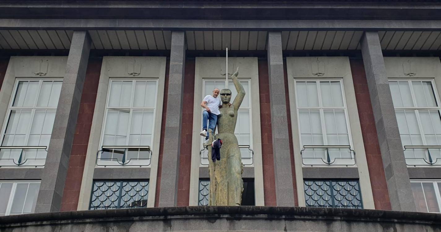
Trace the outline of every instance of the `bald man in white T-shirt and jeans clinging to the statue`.
{"label": "bald man in white T-shirt and jeans clinging to the statue", "polygon": [[201,102],[204,111],[202,112],[202,131],[200,135],[205,137],[205,142],[207,142],[209,138],[207,129],[211,129],[214,134],[214,128],[217,124],[217,116],[221,114],[219,107],[222,106],[222,102],[221,99],[217,97],[219,91],[218,88],[214,88],[213,94],[205,96],[204,100]]}

